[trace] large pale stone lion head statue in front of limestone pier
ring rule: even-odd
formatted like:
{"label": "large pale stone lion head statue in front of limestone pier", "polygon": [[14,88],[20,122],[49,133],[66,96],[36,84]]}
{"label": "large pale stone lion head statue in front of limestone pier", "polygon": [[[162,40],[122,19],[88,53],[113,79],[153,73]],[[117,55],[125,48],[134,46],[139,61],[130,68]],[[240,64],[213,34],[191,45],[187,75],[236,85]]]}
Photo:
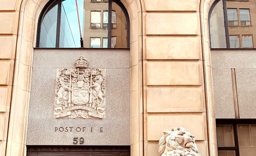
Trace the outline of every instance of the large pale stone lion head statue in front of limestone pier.
{"label": "large pale stone lion head statue in front of limestone pier", "polygon": [[165,130],[159,140],[160,156],[200,156],[195,137],[185,128],[177,127]]}

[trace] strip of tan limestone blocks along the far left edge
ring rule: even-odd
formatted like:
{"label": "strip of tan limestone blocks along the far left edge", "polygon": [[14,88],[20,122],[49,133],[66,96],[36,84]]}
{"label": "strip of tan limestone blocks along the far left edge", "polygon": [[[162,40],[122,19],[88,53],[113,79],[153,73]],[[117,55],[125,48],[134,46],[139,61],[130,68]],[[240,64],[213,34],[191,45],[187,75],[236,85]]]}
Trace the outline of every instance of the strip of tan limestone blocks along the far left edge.
{"label": "strip of tan limestone blocks along the far left edge", "polygon": [[0,0],[0,156],[7,144],[18,17],[16,0]]}

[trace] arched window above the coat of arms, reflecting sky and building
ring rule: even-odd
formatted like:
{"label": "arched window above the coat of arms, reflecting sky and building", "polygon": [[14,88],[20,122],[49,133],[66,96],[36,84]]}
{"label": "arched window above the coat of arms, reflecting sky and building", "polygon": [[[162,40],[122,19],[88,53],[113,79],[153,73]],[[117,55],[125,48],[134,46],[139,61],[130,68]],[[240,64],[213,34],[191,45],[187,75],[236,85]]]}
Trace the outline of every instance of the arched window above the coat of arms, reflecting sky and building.
{"label": "arched window above the coat of arms, reflecting sky and building", "polygon": [[[40,48],[129,48],[128,12],[119,0],[55,0],[43,8]],[[111,28],[111,29],[108,29]]]}

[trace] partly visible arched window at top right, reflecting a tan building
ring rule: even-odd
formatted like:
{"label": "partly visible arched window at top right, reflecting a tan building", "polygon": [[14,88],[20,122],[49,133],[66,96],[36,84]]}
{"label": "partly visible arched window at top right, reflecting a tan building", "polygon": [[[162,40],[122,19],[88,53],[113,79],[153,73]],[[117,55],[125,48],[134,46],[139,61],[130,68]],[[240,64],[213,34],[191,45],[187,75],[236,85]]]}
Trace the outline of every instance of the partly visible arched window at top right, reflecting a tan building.
{"label": "partly visible arched window at top right, reflecting a tan building", "polygon": [[216,0],[209,19],[211,48],[256,48],[255,0]]}

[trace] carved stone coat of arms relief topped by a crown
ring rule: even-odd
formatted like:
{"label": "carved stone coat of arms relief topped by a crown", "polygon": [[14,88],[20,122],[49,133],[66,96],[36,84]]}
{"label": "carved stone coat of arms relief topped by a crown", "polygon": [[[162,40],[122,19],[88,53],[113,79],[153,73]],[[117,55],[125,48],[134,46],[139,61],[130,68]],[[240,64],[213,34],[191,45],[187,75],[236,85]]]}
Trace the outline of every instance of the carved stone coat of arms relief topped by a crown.
{"label": "carved stone coat of arms relief topped by a crown", "polygon": [[75,68],[57,69],[54,116],[56,118],[103,118],[106,69],[87,68],[80,56]]}

